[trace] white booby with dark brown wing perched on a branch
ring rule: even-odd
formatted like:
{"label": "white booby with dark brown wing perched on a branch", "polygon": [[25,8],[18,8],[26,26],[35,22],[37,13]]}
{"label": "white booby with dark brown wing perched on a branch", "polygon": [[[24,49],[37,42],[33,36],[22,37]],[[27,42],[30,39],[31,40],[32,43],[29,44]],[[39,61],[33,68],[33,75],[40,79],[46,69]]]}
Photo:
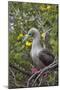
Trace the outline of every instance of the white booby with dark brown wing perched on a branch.
{"label": "white booby with dark brown wing perched on a branch", "polygon": [[[28,36],[33,36],[32,47],[30,55],[32,57],[33,63],[36,65],[37,69],[42,69],[54,61],[53,54],[47,49],[43,48],[40,44],[40,33],[38,29],[31,28],[28,31],[27,36],[24,38],[24,41],[28,38]],[[33,69],[33,72],[37,71]]]}

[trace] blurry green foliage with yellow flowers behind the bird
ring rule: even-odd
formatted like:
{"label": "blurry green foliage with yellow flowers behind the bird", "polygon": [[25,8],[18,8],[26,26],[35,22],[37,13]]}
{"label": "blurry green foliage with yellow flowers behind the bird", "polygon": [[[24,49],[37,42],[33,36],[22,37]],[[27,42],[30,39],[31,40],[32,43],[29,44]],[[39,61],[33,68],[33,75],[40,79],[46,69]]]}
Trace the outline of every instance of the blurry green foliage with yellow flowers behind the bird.
{"label": "blurry green foliage with yellow flowers behind the bird", "polygon": [[[51,29],[47,48],[58,57],[58,5],[8,2],[8,25],[9,65],[12,63],[25,71],[31,72],[33,63],[29,52],[32,45],[32,38],[29,38],[24,44],[22,40],[32,27],[40,31],[42,46],[46,44],[44,38],[42,38],[42,33]],[[10,70],[14,73],[18,86],[26,86],[29,76],[10,68],[9,88],[17,87]],[[56,74],[49,75],[47,78],[48,84],[42,83],[41,86],[58,85]]]}

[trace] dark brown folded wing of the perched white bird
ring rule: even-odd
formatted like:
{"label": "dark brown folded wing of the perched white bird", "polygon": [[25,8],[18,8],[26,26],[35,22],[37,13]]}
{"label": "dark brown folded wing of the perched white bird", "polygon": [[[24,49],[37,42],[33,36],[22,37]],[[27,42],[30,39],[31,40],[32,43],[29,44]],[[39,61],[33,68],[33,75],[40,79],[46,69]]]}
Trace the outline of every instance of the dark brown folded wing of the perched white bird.
{"label": "dark brown folded wing of the perched white bird", "polygon": [[39,52],[39,59],[45,66],[48,66],[54,61],[54,56],[48,49],[43,49]]}

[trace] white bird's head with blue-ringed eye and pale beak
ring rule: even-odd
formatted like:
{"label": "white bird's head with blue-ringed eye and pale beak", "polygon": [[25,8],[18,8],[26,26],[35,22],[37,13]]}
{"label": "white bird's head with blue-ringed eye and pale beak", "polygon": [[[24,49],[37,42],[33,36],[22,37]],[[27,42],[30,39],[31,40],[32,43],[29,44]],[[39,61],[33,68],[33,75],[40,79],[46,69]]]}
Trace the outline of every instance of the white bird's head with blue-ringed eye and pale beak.
{"label": "white bird's head with blue-ringed eye and pale beak", "polygon": [[31,28],[28,31],[27,35],[24,37],[23,42],[26,41],[29,37],[35,38],[35,37],[38,37],[38,36],[40,36],[39,31],[36,28]]}

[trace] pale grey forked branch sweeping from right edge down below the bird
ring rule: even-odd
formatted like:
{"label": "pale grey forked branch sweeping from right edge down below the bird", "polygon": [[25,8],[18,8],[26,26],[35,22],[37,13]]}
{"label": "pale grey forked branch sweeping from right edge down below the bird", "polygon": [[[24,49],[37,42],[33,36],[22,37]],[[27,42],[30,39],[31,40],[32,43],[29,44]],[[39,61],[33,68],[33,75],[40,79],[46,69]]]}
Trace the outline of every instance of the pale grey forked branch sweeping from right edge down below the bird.
{"label": "pale grey forked branch sweeping from right edge down below the bird", "polygon": [[30,81],[31,81],[36,75],[38,75],[38,76],[36,77],[36,79],[35,79],[35,81],[34,81],[34,83],[33,83],[33,86],[34,86],[34,84],[36,83],[36,81],[39,79],[39,77],[42,76],[42,74],[43,74],[44,72],[46,72],[46,71],[48,71],[48,70],[51,70],[51,69],[55,69],[56,67],[58,67],[57,60],[54,61],[54,62],[53,62],[52,64],[50,64],[49,66],[45,67],[44,69],[42,69],[42,70],[34,73],[34,74],[28,79],[27,87],[29,87]]}

